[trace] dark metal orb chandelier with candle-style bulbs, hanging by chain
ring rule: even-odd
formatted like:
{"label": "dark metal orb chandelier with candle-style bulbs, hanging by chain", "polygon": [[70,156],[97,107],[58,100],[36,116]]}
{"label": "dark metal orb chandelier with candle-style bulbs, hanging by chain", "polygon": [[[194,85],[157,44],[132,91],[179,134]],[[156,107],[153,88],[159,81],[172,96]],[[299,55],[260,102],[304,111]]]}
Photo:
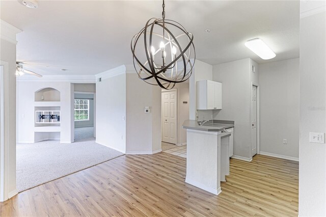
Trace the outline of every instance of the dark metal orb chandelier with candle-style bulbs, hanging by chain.
{"label": "dark metal orb chandelier with candle-style bulbs, hanging by chain", "polygon": [[161,19],[149,19],[133,36],[131,52],[139,78],[170,90],[191,76],[196,52],[193,34],[180,23],[165,19],[164,0],[162,8]]}

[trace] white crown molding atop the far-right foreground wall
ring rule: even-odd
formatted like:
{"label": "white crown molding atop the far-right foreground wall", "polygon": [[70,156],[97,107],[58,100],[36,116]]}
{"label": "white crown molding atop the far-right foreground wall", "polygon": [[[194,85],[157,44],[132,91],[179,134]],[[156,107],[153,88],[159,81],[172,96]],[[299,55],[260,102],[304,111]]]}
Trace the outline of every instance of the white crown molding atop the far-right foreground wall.
{"label": "white crown molding atop the far-right foreground wall", "polygon": [[326,11],[326,1],[300,1],[300,18]]}

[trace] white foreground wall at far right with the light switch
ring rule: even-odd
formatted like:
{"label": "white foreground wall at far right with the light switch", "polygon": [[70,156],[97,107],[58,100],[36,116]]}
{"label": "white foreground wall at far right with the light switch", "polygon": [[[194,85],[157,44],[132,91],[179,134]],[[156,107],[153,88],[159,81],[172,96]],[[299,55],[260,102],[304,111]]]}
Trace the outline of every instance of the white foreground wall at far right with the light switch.
{"label": "white foreground wall at far right with the light switch", "polygon": [[325,2],[301,1],[300,12],[299,215],[326,216],[326,145],[309,142],[326,130]]}

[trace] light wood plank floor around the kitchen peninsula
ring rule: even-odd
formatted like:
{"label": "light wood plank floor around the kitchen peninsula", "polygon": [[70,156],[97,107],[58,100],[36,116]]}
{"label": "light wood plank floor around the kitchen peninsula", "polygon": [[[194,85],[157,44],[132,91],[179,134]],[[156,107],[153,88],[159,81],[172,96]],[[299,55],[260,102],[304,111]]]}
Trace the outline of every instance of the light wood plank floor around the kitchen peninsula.
{"label": "light wood plank floor around the kitchen peninsula", "polygon": [[186,158],[124,155],[0,203],[1,216],[297,216],[298,163],[231,159],[219,196],[186,184]]}

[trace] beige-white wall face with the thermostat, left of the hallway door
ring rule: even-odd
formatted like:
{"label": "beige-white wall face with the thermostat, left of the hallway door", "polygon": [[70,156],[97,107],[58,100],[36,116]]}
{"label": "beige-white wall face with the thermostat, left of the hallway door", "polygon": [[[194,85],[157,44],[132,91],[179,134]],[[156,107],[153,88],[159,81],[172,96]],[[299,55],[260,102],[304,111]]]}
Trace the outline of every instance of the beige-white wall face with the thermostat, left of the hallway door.
{"label": "beige-white wall face with the thermostat, left of the hallway door", "polygon": [[[126,82],[126,153],[160,151],[161,89],[143,82],[135,72],[127,73]],[[145,106],[150,113],[145,113]]]}

